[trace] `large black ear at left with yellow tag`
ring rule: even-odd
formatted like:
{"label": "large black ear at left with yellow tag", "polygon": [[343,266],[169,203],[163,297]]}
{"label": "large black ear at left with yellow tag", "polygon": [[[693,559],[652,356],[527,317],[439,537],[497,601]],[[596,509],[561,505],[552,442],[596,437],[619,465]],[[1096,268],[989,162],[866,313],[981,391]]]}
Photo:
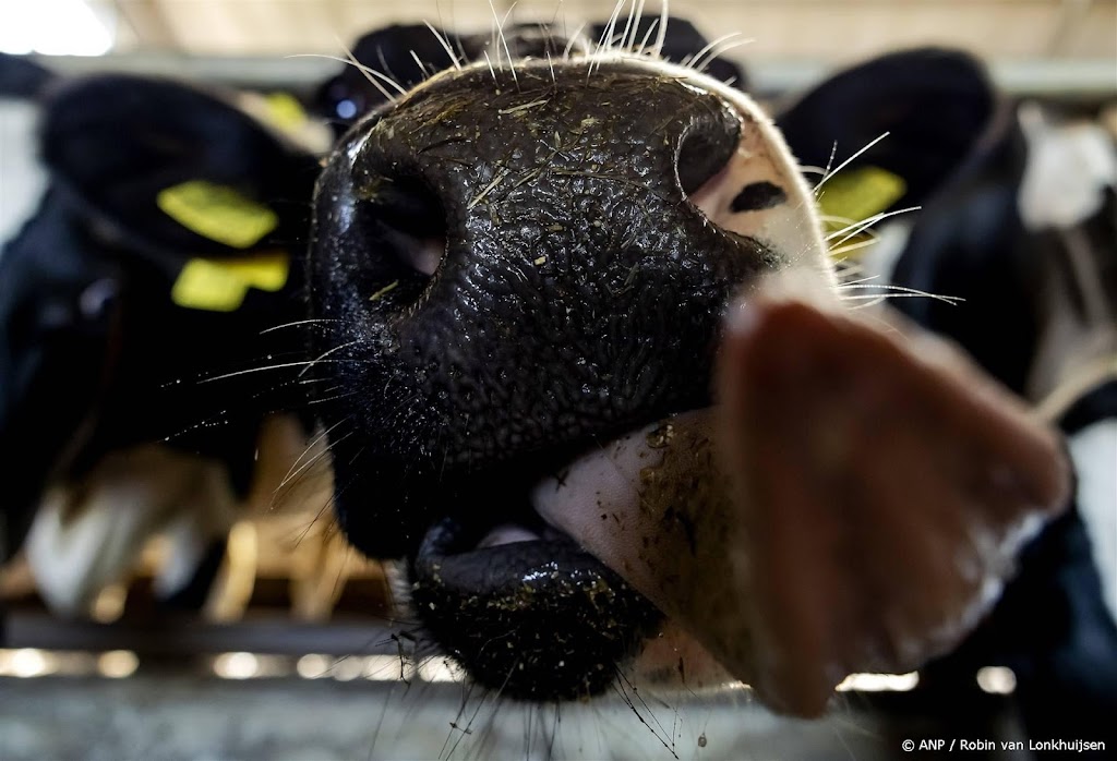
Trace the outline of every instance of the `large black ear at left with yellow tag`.
{"label": "large black ear at left with yellow tag", "polygon": [[231,96],[93,76],[52,90],[40,139],[52,180],[96,233],[171,269],[305,238],[316,160]]}

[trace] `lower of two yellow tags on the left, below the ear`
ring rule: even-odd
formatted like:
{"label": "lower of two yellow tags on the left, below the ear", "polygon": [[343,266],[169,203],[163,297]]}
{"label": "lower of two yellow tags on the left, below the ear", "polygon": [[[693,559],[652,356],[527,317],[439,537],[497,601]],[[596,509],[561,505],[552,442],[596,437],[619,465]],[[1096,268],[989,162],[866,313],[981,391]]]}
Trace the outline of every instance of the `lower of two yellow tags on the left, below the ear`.
{"label": "lower of two yellow tags on the left, below the ear", "polygon": [[179,272],[171,300],[188,309],[235,311],[249,288],[277,291],[287,283],[290,258],[265,253],[246,259],[191,259]]}

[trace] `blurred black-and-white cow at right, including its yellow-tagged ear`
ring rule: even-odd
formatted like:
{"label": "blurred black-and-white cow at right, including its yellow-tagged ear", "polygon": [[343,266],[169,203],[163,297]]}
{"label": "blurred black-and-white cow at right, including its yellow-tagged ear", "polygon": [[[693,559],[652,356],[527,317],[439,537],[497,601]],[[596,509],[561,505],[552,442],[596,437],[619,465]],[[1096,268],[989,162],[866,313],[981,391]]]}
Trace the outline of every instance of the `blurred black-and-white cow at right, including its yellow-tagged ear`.
{"label": "blurred black-and-white cow at right, including its yellow-tagged ear", "polygon": [[[818,195],[865,292],[891,289],[897,309],[1057,423],[1078,482],[1076,508],[1032,542],[994,614],[923,685],[978,700],[974,674],[1010,666],[1033,736],[1066,734],[1068,716],[1096,731],[1117,711],[1111,117],[1006,97],[965,57],[919,58],[850,68],[777,124],[804,164],[844,164]],[[876,243],[858,224],[873,219],[885,222]]]}

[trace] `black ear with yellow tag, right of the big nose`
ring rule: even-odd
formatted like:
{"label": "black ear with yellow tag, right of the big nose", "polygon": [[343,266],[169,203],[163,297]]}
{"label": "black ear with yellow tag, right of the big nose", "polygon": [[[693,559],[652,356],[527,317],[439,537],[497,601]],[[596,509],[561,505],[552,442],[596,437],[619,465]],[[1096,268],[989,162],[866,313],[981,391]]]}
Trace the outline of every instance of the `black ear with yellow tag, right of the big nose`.
{"label": "black ear with yellow tag, right of the big nose", "polygon": [[[1002,106],[973,56],[901,50],[846,69],[776,108],[800,164],[842,166],[819,193],[823,213],[862,220],[919,205],[971,160]],[[870,146],[871,147],[866,147]]]}

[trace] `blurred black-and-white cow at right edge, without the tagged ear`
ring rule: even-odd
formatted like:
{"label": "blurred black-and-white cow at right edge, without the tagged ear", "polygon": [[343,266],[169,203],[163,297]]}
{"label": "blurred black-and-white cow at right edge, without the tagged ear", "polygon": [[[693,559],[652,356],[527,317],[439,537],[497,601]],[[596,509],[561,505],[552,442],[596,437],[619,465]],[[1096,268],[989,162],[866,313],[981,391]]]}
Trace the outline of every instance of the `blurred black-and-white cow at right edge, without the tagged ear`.
{"label": "blurred black-and-white cow at right edge, without the tagged ear", "polygon": [[[892,280],[948,293],[900,309],[1022,395],[1067,439],[1073,509],[1021,556],[987,624],[929,678],[1011,666],[1037,736],[1117,711],[1117,144],[1088,116],[1005,99],[911,225]],[[970,682],[972,687],[972,682]]]}

